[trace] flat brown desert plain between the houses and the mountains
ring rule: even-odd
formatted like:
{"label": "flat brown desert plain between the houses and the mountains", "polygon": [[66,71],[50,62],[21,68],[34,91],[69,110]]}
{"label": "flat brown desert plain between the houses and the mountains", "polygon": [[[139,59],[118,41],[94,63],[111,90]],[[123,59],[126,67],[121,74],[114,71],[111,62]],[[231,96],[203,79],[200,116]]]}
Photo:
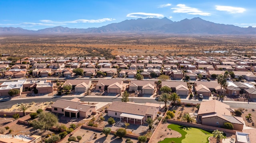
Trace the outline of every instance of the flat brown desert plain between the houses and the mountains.
{"label": "flat brown desert plain between the houses and the mountains", "polygon": [[115,55],[230,56],[255,54],[255,35],[58,34],[0,37],[0,53],[18,57]]}

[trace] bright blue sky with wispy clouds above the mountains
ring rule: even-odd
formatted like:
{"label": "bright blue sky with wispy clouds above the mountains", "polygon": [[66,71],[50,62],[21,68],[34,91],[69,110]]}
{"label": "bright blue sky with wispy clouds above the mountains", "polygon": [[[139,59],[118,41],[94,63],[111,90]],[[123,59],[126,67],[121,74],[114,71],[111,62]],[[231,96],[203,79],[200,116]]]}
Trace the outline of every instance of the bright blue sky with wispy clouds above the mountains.
{"label": "bright blue sky with wispy clouds above the mountains", "polygon": [[101,27],[138,18],[256,27],[255,0],[0,0],[0,27]]}

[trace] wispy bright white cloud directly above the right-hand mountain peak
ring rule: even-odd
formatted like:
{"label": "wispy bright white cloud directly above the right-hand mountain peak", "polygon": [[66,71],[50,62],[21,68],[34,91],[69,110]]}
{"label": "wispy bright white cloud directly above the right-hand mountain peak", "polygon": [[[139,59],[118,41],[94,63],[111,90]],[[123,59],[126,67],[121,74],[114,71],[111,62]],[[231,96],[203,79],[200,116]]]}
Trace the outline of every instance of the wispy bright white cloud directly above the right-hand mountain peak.
{"label": "wispy bright white cloud directly above the right-hand mountain peak", "polygon": [[198,10],[198,8],[191,8],[186,6],[185,4],[177,4],[178,8],[171,8],[171,10],[174,10],[175,13],[187,13],[192,15],[201,15],[201,16],[210,16],[210,13],[202,12],[201,10]]}

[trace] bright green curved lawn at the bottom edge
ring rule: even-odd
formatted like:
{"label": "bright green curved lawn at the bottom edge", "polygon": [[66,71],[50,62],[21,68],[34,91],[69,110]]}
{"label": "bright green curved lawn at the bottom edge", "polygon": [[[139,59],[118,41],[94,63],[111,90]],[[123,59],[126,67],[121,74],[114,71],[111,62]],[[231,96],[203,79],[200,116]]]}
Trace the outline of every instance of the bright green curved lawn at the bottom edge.
{"label": "bright green curved lawn at the bottom edge", "polygon": [[208,131],[194,127],[170,124],[168,128],[178,131],[182,137],[166,138],[160,143],[171,143],[171,141],[175,141],[175,143],[208,143],[208,138],[213,136],[213,134]]}

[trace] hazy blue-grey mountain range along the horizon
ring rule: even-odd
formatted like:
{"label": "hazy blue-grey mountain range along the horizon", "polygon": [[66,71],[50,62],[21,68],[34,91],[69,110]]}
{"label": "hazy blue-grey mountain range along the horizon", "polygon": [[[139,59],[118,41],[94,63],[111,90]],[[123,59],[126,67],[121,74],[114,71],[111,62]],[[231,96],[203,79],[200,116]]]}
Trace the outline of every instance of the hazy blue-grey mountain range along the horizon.
{"label": "hazy blue-grey mountain range along the horizon", "polygon": [[173,22],[168,18],[138,18],[124,20],[98,28],[77,29],[68,27],[51,27],[37,31],[20,27],[0,27],[0,35],[24,34],[57,34],[57,33],[176,33],[176,34],[256,34],[254,27],[238,27],[234,25],[216,24],[201,18],[184,19]]}

